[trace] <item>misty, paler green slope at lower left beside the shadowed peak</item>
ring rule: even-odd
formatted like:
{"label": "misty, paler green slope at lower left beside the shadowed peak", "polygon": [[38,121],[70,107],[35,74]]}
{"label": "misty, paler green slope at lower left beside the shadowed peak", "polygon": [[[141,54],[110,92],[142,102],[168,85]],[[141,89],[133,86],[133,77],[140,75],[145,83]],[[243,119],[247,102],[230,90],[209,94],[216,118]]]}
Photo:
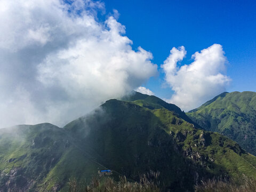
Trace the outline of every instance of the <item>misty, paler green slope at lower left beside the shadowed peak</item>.
{"label": "misty, paler green slope at lower left beside the shadowed peak", "polygon": [[104,168],[75,138],[49,123],[1,129],[0,162],[1,192],[58,191],[72,175],[89,180]]}

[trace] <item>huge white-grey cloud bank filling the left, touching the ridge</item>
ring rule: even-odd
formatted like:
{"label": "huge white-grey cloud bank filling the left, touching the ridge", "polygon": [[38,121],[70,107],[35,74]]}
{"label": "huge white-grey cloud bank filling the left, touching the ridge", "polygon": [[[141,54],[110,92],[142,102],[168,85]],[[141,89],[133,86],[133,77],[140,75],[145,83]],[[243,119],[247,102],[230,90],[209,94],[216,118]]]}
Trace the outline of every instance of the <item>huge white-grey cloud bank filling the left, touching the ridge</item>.
{"label": "huge white-grey cloud bank filling the left, touching the ridge", "polygon": [[98,21],[104,11],[91,0],[0,1],[0,127],[62,126],[156,75],[121,23]]}

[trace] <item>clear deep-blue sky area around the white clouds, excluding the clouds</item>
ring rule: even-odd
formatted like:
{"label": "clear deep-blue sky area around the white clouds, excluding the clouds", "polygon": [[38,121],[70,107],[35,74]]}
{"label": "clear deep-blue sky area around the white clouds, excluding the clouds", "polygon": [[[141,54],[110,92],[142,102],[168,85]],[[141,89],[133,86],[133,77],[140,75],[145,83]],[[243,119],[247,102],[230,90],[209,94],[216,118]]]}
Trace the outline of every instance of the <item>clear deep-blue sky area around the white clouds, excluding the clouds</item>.
{"label": "clear deep-blue sky area around the white clouds, excluding the clouds", "polygon": [[[126,27],[126,35],[138,46],[153,53],[158,66],[172,47],[185,46],[186,58],[214,43],[221,44],[227,57],[227,75],[232,79],[227,91],[256,91],[256,2],[255,1],[103,1],[106,12],[116,9]],[[161,71],[161,70],[160,70]],[[162,98],[164,74],[151,78],[145,86]]]}

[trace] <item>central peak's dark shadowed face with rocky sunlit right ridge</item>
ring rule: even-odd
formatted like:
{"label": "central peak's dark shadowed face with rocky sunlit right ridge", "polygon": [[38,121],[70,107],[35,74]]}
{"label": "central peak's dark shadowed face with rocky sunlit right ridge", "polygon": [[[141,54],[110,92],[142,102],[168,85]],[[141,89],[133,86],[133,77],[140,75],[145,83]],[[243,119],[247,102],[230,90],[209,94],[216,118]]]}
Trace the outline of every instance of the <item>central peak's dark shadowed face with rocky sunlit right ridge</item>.
{"label": "central peak's dark shadowed face with rocky sunlit right ridge", "polygon": [[256,176],[255,157],[236,142],[198,130],[174,111],[145,100],[109,100],[65,129],[86,140],[101,164],[133,180],[141,172],[160,171],[165,185],[191,190],[202,177]]}

